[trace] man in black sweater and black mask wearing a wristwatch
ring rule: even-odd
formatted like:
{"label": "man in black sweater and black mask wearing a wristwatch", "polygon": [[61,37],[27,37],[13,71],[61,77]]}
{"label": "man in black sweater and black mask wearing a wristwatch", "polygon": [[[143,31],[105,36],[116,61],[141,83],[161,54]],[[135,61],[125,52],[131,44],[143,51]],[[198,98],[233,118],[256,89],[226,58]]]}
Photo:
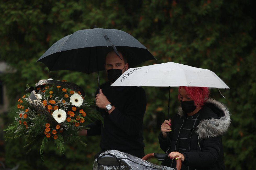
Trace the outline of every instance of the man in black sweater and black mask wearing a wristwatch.
{"label": "man in black sweater and black mask wearing a wristwatch", "polygon": [[142,87],[110,85],[128,69],[126,57],[114,51],[107,54],[105,70],[109,82],[100,86],[96,92],[96,106],[104,118],[104,125],[98,121],[88,125],[89,130],[80,134],[101,135],[101,152],[115,149],[133,156],[144,156],[142,137],[143,116],[146,110],[146,95]]}

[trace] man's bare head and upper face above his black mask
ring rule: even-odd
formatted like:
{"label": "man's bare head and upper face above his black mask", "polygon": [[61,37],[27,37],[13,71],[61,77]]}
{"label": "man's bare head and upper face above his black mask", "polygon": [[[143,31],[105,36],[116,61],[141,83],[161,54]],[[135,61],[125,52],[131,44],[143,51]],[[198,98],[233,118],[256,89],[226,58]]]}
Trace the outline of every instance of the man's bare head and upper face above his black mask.
{"label": "man's bare head and upper face above his black mask", "polygon": [[[123,59],[123,55],[119,53]],[[121,60],[114,51],[111,51],[106,56],[105,69],[120,69],[122,74],[128,69],[128,63],[124,64],[124,60]]]}

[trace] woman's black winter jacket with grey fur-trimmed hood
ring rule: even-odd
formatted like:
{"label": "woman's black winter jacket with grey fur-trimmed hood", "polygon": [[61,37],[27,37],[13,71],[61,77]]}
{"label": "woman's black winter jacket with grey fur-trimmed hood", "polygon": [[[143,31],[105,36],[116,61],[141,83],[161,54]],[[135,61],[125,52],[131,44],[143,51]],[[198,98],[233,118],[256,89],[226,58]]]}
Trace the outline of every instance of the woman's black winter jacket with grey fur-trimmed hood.
{"label": "woman's black winter jacket with grey fur-trimmed hood", "polygon": [[[163,151],[170,153],[178,151],[179,134],[184,123],[184,113],[179,107],[178,114],[172,119],[172,132],[168,138],[159,134],[159,143]],[[190,133],[189,152],[182,153],[185,160],[182,165],[193,169],[225,169],[222,135],[228,130],[231,123],[230,112],[218,101],[208,99],[199,111],[199,122]],[[175,161],[166,159],[162,165],[174,168]]]}

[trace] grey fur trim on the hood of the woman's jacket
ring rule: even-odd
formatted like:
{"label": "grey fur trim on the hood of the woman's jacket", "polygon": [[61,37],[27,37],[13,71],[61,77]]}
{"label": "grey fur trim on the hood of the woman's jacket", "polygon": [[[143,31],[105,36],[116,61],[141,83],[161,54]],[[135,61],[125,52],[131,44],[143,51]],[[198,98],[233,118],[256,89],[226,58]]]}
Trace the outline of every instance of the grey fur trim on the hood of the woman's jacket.
{"label": "grey fur trim on the hood of the woman's jacket", "polygon": [[[201,139],[224,135],[231,124],[231,113],[224,104],[214,99],[209,98],[206,101],[206,104],[213,104],[217,109],[223,111],[224,115],[219,119],[210,118],[201,120],[199,125],[196,127],[197,135]],[[178,114],[180,116],[184,116],[184,112],[182,111],[181,107],[178,108]]]}

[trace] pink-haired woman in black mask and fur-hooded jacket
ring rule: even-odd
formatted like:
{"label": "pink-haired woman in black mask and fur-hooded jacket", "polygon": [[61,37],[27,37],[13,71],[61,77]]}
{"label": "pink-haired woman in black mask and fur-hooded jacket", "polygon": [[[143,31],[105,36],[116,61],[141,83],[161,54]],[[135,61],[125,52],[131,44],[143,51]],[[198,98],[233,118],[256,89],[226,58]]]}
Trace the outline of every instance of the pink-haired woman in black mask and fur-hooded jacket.
{"label": "pink-haired woman in black mask and fur-hooded jacket", "polygon": [[225,169],[222,135],[231,123],[230,112],[218,101],[208,99],[207,87],[179,87],[178,114],[165,120],[159,134],[160,147],[169,153],[162,165],[181,169]]}

